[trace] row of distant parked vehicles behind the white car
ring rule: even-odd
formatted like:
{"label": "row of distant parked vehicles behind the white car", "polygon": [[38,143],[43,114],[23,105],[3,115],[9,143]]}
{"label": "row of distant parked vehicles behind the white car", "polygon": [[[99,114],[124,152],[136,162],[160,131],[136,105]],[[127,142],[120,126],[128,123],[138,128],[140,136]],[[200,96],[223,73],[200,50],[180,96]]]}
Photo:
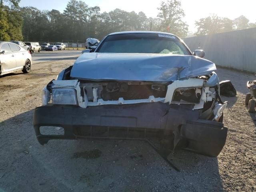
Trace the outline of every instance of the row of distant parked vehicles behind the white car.
{"label": "row of distant parked vehicles behind the white car", "polygon": [[30,52],[40,52],[41,50],[46,51],[57,51],[57,50],[65,50],[66,45],[63,43],[56,43],[55,45],[51,45],[50,43],[43,43],[41,46],[38,42],[22,42],[22,41],[10,41],[12,43],[15,43],[25,50],[28,50]]}

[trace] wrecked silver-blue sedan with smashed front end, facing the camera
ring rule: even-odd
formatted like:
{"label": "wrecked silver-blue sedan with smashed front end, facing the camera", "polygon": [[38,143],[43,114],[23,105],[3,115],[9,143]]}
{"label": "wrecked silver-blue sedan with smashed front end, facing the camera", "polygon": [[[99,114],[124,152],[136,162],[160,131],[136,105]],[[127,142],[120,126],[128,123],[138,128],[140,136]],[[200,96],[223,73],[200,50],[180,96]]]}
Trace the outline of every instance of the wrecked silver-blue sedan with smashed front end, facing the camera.
{"label": "wrecked silver-blue sedan with smashed front end, facing the camera", "polygon": [[[218,156],[227,136],[214,63],[163,32],[118,32],[43,88],[34,111],[40,144],[51,139],[159,138],[166,148]],[[62,135],[44,135],[44,126]]]}

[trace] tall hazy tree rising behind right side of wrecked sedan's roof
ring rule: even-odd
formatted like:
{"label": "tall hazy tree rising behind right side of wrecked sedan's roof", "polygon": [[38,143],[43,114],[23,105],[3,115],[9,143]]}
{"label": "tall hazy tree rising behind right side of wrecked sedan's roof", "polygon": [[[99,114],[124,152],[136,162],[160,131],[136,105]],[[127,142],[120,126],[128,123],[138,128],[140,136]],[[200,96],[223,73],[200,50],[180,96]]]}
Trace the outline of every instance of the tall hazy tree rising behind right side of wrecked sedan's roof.
{"label": "tall hazy tree rising behind right side of wrecked sedan's roof", "polygon": [[167,0],[161,2],[158,17],[162,19],[161,30],[171,32],[178,36],[186,36],[188,25],[182,21],[185,16],[179,0]]}

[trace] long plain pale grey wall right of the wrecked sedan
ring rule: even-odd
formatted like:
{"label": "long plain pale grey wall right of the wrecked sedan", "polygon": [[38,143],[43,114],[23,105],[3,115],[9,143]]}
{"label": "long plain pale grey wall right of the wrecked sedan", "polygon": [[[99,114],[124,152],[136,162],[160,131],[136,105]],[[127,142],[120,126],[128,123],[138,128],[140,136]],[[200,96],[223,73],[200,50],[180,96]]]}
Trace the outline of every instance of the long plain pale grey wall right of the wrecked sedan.
{"label": "long plain pale grey wall right of the wrecked sedan", "polygon": [[256,28],[183,39],[193,52],[198,46],[219,66],[256,72]]}

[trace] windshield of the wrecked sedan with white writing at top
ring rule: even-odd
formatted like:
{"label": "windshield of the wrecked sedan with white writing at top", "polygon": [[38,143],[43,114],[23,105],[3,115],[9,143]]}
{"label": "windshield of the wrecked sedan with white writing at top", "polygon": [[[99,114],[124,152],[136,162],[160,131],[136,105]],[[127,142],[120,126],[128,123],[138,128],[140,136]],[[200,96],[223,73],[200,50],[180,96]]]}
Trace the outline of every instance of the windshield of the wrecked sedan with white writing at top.
{"label": "windshield of the wrecked sedan with white writing at top", "polygon": [[97,52],[191,55],[176,36],[165,34],[110,35]]}

